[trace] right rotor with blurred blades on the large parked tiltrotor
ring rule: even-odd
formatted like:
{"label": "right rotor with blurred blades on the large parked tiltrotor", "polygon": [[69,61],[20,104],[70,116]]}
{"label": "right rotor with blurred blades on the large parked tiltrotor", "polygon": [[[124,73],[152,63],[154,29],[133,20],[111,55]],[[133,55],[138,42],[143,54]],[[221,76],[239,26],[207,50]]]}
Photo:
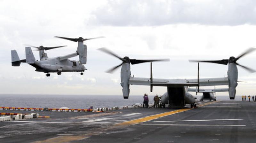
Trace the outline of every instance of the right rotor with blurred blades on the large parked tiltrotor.
{"label": "right rotor with blurred blades on the large parked tiltrotor", "polygon": [[215,64],[236,64],[236,65],[239,65],[239,66],[241,66],[241,67],[243,67],[244,69],[246,69],[246,70],[248,70],[249,72],[256,72],[255,70],[253,70],[253,69],[251,69],[251,68],[249,68],[249,67],[246,67],[246,66],[243,66],[243,65],[241,65],[241,64],[238,64],[238,63],[236,63],[236,61],[239,59],[239,58],[241,58],[241,57],[243,57],[243,56],[245,56],[245,55],[247,55],[247,54],[249,54],[249,53],[251,53],[252,51],[254,51],[255,50],[255,48],[249,48],[249,49],[247,49],[244,53],[242,53],[240,56],[238,56],[237,58],[236,57],[234,57],[234,56],[231,56],[231,57],[229,57],[229,59],[222,59],[222,60],[189,60],[189,62],[206,62],[206,63],[215,63]]}

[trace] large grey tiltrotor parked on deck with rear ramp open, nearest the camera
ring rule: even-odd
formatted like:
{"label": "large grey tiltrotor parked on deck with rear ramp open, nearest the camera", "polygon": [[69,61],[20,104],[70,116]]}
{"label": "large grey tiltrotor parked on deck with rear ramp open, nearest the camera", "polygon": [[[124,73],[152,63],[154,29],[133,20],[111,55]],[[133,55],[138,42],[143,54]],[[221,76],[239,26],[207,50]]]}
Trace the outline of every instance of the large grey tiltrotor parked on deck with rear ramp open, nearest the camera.
{"label": "large grey tiltrotor parked on deck with rear ramp open, nearest the camera", "polygon": [[[169,107],[171,108],[182,108],[186,104],[190,104],[191,108],[194,106],[196,107],[196,101],[195,97],[188,93],[189,91],[194,91],[192,88],[188,87],[197,87],[197,92],[200,91],[201,86],[221,86],[221,85],[228,85],[228,93],[230,99],[235,99],[236,95],[236,86],[237,86],[237,67],[236,65],[242,66],[240,64],[237,64],[236,61],[244,56],[245,54],[248,54],[254,49],[249,49],[245,51],[242,55],[238,56],[238,58],[230,57],[227,60],[221,60],[221,61],[213,61],[215,63],[225,63],[228,64],[228,77],[224,78],[205,78],[205,79],[199,79],[199,63],[198,63],[198,73],[197,73],[197,79],[153,79],[152,74],[152,63],[150,64],[150,78],[139,78],[139,77],[131,77],[131,70],[130,70],[130,63],[134,64],[136,59],[130,59],[129,57],[125,56],[124,58],[121,58],[120,56],[117,56],[112,51],[100,48],[99,50],[108,53],[112,56],[115,56],[122,60],[123,62],[110,69],[108,72],[111,73],[115,69],[117,69],[119,66],[122,66],[120,76],[121,76],[121,86],[123,87],[122,92],[124,99],[128,99],[129,93],[130,93],[130,85],[145,85],[150,86],[150,91],[153,91],[153,86],[162,86],[167,87],[167,92],[162,95],[162,104],[165,107],[165,104],[169,104]],[[140,60],[138,60],[140,61]],[[153,61],[153,60],[151,60]],[[143,62],[151,62],[150,60],[145,60],[141,62],[136,62],[136,64],[143,63]],[[197,61],[195,61],[197,62]],[[201,61],[203,62],[203,61]],[[206,61],[204,61],[206,62]],[[212,61],[211,61],[212,62]],[[245,69],[254,72],[252,69],[242,66]],[[215,90],[217,92],[218,90]],[[225,91],[225,89],[220,89],[219,91]]]}

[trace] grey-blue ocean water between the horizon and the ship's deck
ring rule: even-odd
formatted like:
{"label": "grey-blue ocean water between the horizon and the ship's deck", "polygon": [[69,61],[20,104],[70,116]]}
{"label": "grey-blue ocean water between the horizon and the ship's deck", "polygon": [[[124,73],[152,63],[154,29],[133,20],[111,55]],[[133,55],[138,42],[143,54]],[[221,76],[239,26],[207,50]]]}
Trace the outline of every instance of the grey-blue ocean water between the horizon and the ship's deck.
{"label": "grey-blue ocean water between the horizon and the ship's deck", "polygon": [[[153,97],[149,95],[149,103],[153,103]],[[196,95],[199,100],[200,95]],[[216,96],[218,100],[229,100],[228,95]],[[241,100],[241,96],[236,96]],[[61,108],[73,109],[130,106],[135,103],[143,103],[143,95],[130,95],[124,99],[123,95],[22,95],[0,94],[0,107],[27,107],[27,108]]]}

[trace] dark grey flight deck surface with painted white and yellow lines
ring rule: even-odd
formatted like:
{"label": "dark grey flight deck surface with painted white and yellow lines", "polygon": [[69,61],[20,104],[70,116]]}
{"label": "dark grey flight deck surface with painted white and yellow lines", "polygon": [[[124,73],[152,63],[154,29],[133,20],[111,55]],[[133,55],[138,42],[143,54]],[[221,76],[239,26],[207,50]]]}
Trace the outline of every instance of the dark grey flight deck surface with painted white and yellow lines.
{"label": "dark grey flight deck surface with painted white and yellow lines", "polygon": [[256,102],[198,106],[103,113],[0,110],[50,116],[0,122],[0,142],[255,142]]}

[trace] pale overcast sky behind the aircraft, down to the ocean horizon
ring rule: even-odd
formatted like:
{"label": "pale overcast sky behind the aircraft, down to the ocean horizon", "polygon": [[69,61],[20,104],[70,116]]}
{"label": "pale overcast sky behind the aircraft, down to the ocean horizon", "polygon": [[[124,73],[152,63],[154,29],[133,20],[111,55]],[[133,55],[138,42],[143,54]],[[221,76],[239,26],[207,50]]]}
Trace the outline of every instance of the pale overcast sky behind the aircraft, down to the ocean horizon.
{"label": "pale overcast sky behind the aircraft, down to the ocean horizon", "polygon": [[[154,78],[196,78],[197,64],[189,59],[227,59],[256,47],[255,24],[254,0],[0,0],[0,94],[122,95],[120,69],[105,73],[121,61],[97,50],[100,47],[122,57],[170,58],[170,62],[153,63]],[[46,77],[25,63],[11,66],[11,50],[23,59],[24,44],[68,45],[47,51],[49,57],[76,51],[76,42],[54,36],[106,38],[86,41],[84,75],[66,72]],[[34,55],[39,59],[38,51]],[[238,62],[256,69],[255,55]],[[132,65],[132,75],[149,77],[149,65]],[[224,77],[227,70],[226,65],[200,64],[200,77]],[[238,80],[247,82],[238,83],[237,95],[256,94],[256,73],[240,67],[238,72]],[[153,93],[149,88],[130,86],[130,95],[166,92],[166,87],[154,87]]]}

